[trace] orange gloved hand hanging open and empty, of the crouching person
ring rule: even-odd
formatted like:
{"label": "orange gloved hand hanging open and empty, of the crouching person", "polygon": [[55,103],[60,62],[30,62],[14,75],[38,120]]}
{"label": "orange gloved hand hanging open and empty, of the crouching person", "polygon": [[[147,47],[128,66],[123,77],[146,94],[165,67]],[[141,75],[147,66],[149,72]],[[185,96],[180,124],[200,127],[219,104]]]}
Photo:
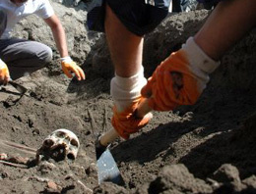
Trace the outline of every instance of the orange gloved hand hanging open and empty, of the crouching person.
{"label": "orange gloved hand hanging open and empty, of the crouching person", "polygon": [[72,77],[71,73],[75,73],[78,80],[86,78],[84,71],[70,57],[61,58],[61,67],[69,78]]}

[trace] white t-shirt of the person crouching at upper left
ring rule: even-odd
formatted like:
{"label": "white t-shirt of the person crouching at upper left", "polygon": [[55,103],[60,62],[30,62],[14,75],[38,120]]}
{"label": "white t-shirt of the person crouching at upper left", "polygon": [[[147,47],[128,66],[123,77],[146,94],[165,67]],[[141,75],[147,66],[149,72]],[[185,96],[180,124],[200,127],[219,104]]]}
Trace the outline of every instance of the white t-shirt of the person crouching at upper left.
{"label": "white t-shirt of the person crouching at upper left", "polygon": [[10,0],[0,0],[0,9],[7,14],[7,25],[0,37],[1,39],[9,38],[15,24],[29,15],[35,14],[42,19],[47,19],[54,14],[48,0],[28,0],[20,6],[17,6]]}

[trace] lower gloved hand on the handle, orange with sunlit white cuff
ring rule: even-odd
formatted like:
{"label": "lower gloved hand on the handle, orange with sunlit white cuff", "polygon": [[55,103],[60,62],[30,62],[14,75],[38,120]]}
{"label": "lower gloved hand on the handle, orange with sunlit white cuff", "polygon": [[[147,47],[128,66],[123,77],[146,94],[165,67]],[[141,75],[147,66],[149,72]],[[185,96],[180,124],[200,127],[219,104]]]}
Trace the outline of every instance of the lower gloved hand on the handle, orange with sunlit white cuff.
{"label": "lower gloved hand on the handle, orange with sunlit white cuff", "polygon": [[141,88],[146,82],[143,68],[140,73],[131,77],[115,75],[111,80],[110,93],[114,100],[112,125],[124,139],[128,139],[131,133],[137,132],[152,119],[152,114],[143,118],[136,116],[136,110],[142,101]]}

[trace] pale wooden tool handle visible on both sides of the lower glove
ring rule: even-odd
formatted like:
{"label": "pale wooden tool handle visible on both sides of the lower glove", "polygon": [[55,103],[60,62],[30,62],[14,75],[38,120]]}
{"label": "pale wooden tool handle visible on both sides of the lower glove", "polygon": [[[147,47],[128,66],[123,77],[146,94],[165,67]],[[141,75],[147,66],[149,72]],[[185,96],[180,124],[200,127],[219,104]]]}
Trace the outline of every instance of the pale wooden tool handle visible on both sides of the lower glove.
{"label": "pale wooden tool handle visible on both sides of the lower glove", "polygon": [[[148,100],[145,99],[139,104],[136,114],[138,118],[143,118],[151,111],[152,111],[152,108],[149,107]],[[109,143],[113,142],[117,137],[119,137],[118,133],[116,132],[115,129],[112,128],[99,137],[99,143],[102,146],[107,146]]]}

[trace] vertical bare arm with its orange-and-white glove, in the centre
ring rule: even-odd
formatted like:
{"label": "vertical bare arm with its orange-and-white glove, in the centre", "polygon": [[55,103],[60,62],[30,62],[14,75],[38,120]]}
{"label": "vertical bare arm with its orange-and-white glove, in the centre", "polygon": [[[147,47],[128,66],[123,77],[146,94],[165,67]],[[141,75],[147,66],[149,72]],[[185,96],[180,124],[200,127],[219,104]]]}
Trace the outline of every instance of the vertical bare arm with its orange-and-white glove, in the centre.
{"label": "vertical bare arm with its orange-and-white glove, in the centre", "polygon": [[111,123],[122,138],[128,139],[152,118],[151,114],[143,118],[133,114],[142,100],[141,88],[147,82],[142,66],[144,38],[129,31],[109,6],[106,6],[105,35],[115,68],[110,83],[114,101]]}

